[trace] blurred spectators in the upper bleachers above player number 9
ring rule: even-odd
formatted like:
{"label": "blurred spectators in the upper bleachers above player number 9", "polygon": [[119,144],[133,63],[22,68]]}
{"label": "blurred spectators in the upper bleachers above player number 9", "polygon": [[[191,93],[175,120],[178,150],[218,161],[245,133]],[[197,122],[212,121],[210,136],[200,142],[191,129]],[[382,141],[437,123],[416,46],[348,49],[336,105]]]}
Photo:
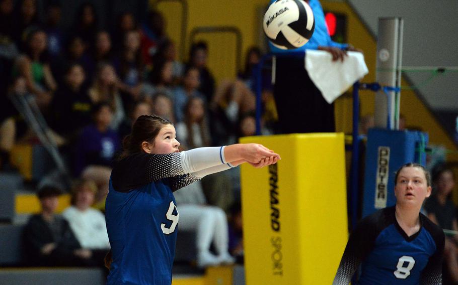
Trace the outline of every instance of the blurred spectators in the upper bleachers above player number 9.
{"label": "blurred spectators in the upper bleachers above player number 9", "polygon": [[[123,12],[113,31],[107,31],[99,29],[94,6],[84,3],[69,31],[64,31],[59,25],[59,5],[52,3],[45,8],[42,23],[36,5],[34,0],[19,1],[16,7],[12,0],[0,1],[1,99],[8,110],[0,120],[0,167],[8,162],[15,141],[30,139],[30,135],[25,136],[30,134],[28,127],[9,96],[35,99],[59,147],[68,151],[66,159],[75,177],[90,165],[108,166],[119,150],[119,140],[129,132],[135,119],[132,116],[141,114],[135,111],[140,102],[149,105],[145,111],[186,126],[183,131],[198,125],[205,138],[202,146],[234,143],[241,133],[240,118],[255,109],[252,75],[261,57],[257,48],[249,50],[245,70],[237,79],[216,84],[207,65],[207,44],[193,43],[188,61],[181,62],[175,43],[165,32],[165,20],[157,11],[150,11],[145,23]],[[11,25],[13,19],[19,24]],[[268,88],[263,98],[272,102]],[[188,101],[194,104],[187,105]],[[110,112],[110,118],[94,111],[99,104],[107,106],[105,113]],[[191,122],[195,118],[189,110],[199,104],[203,108],[201,118]],[[270,109],[267,115],[273,121],[275,110]],[[101,125],[102,118],[110,119],[107,129]],[[92,130],[87,128],[91,124]],[[104,135],[97,136],[96,129],[104,134],[114,132],[109,135],[111,143],[106,143]],[[188,147],[194,147],[188,143],[194,139],[193,129],[178,133]],[[89,147],[81,145],[83,131],[99,140],[84,143],[93,145],[90,150],[81,149]],[[9,141],[4,141],[7,137]]]}

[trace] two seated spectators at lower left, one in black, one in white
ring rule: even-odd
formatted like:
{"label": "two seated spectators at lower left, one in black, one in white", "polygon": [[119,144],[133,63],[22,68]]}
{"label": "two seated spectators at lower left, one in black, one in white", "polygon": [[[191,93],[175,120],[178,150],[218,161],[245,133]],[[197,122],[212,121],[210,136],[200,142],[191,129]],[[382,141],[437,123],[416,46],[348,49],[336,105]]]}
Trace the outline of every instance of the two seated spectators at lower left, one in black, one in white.
{"label": "two seated spectators at lower left, one in black, one in white", "polygon": [[75,183],[71,206],[56,214],[62,191],[45,186],[37,193],[41,212],[24,227],[25,260],[33,266],[99,266],[110,245],[105,217],[91,208],[96,185],[91,180]]}

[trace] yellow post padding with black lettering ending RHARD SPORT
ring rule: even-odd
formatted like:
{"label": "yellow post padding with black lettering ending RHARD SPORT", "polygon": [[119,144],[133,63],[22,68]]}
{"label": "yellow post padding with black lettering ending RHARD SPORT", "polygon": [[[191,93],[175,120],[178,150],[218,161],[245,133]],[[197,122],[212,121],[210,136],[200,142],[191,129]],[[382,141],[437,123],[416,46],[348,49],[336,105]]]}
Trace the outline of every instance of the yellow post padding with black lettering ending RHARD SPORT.
{"label": "yellow post padding with black lettering ending RHARD SPORT", "polygon": [[331,284],[348,238],[343,133],[241,138],[280,154],[242,165],[247,285]]}

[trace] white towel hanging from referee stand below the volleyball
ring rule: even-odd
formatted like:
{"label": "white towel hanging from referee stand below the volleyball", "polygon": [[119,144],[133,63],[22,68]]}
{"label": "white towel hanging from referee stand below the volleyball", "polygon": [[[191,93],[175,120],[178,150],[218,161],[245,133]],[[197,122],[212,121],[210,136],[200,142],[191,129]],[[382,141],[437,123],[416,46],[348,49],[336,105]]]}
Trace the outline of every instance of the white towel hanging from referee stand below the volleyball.
{"label": "white towel hanging from referee stand below the volleyball", "polygon": [[332,61],[332,55],[326,51],[306,52],[309,77],[330,104],[368,73],[362,53],[347,52],[347,55],[341,62]]}

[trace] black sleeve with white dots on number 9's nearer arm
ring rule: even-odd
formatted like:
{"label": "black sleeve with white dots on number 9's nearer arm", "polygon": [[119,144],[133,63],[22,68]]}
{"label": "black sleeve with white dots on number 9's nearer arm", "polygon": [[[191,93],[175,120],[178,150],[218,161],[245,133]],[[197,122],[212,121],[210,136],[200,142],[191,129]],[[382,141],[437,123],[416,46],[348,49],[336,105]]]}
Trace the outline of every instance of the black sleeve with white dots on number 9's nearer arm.
{"label": "black sleeve with white dots on number 9's nearer arm", "polygon": [[[179,153],[164,155],[136,153],[115,163],[111,173],[111,183],[116,191],[128,192],[150,182],[184,174]],[[174,183],[172,182],[171,185]]]}

